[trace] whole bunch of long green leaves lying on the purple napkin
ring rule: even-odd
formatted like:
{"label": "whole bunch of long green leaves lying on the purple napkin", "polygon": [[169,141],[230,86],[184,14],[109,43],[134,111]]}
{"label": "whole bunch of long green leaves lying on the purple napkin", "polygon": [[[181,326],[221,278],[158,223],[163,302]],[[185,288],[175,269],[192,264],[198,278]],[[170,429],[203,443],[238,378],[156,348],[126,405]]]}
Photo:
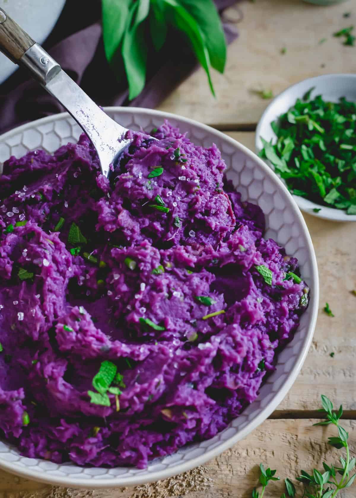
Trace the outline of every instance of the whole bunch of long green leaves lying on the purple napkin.
{"label": "whole bunch of long green leaves lying on the purple napkin", "polygon": [[223,73],[226,41],[212,0],[102,0],[102,26],[107,61],[120,81],[125,68],[129,100],[143,90],[147,60],[157,56],[172,30],[187,37],[214,95],[210,71]]}

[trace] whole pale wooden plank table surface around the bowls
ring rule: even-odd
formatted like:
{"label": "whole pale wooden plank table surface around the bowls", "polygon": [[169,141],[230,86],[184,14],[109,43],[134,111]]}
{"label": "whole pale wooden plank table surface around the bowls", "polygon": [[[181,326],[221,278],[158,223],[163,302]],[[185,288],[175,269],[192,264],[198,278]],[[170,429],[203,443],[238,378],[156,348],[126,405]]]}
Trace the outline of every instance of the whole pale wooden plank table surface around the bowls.
{"label": "whole pale wooden plank table surface around the bowls", "polygon": [[[343,16],[351,12],[351,16]],[[301,0],[242,1],[231,18],[239,38],[229,47],[224,75],[214,74],[217,93],[209,93],[205,74],[197,71],[159,107],[225,130],[254,149],[254,129],[269,101],[253,93],[275,95],[304,78],[326,73],[355,73],[356,47],[332,34],[356,24],[356,1],[317,7]],[[323,43],[320,40],[327,38]],[[285,47],[286,53],[281,49]],[[245,440],[206,466],[140,489],[66,490],[20,479],[0,471],[0,498],[247,498],[257,484],[258,465],[278,469],[281,479],[301,469],[337,462],[339,453],[326,441],[333,428],[312,427],[320,394],[343,403],[344,426],[356,452],[356,224],[335,223],[305,215],[317,254],[320,309],[313,344],[301,373],[272,416]],[[335,317],[323,312],[328,301]],[[330,353],[335,353],[330,357]],[[280,497],[283,483],[272,483],[264,498]],[[354,497],[356,486],[338,496]],[[299,495],[298,495],[299,496]],[[300,495],[301,496],[301,495]]]}

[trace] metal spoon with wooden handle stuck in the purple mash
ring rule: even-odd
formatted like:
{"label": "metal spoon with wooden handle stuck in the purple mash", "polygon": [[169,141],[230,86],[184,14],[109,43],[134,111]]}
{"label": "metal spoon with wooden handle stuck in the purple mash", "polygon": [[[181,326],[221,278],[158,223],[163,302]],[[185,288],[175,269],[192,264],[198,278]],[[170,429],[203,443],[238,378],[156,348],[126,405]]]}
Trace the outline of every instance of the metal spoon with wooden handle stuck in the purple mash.
{"label": "metal spoon with wooden handle stuck in the purple mash", "polygon": [[128,129],[109,118],[1,7],[0,51],[15,64],[29,69],[40,85],[75,119],[91,139],[101,171],[108,177],[110,164],[115,165],[132,143],[125,138]]}

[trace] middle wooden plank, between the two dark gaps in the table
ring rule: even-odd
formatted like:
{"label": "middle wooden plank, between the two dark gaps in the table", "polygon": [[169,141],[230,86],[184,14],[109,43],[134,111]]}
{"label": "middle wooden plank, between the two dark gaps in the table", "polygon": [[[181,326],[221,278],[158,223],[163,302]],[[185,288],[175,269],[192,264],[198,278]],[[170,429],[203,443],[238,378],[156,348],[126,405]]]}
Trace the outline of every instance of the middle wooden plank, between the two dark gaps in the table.
{"label": "middle wooden plank, between the two dark gaps in the table", "polygon": [[[254,150],[254,132],[227,134]],[[355,410],[356,297],[350,291],[356,288],[356,226],[308,214],[304,218],[318,260],[320,309],[309,355],[278,410],[289,411],[291,415],[294,410],[315,410],[319,407],[320,394],[326,394],[335,404],[343,403],[345,409]],[[326,302],[334,318],[323,312]],[[332,352],[334,358],[329,356]]]}

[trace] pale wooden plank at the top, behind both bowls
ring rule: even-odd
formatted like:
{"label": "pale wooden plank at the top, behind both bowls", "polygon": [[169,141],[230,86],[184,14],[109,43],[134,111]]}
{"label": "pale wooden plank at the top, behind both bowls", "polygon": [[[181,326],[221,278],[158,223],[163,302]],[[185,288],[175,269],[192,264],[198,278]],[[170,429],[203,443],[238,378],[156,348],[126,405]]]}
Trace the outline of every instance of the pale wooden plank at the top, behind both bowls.
{"label": "pale wooden plank at the top, behind both bowls", "polygon": [[[355,24],[355,10],[350,18],[343,17],[354,7],[354,0],[328,7],[301,0],[240,2],[239,38],[229,46],[225,74],[213,74],[217,98],[210,95],[199,69],[158,109],[222,129],[243,129],[256,124],[269,103],[253,89],[271,89],[277,95],[305,78],[356,72],[355,48],[333,37]],[[230,9],[227,16],[236,19],[236,11]],[[320,43],[323,38],[327,40]]]}

